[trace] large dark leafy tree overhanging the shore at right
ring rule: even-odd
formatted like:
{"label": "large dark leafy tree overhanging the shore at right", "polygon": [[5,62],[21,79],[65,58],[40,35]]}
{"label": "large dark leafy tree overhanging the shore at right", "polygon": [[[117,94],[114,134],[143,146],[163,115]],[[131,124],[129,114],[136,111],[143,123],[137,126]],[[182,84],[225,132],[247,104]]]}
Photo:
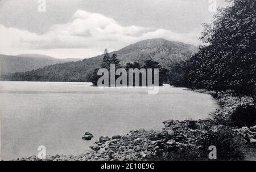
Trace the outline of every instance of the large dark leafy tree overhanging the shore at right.
{"label": "large dark leafy tree overhanging the shore at right", "polygon": [[189,83],[193,88],[256,90],[256,1],[229,0],[212,23],[204,24],[205,43],[191,58]]}

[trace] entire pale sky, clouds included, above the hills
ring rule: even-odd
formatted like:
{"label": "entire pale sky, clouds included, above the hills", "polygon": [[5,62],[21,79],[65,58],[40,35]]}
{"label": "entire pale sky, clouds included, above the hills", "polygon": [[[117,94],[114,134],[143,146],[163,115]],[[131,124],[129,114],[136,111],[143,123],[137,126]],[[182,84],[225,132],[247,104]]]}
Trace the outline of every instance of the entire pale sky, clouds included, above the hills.
{"label": "entire pale sky, clouds included, above the hills", "polygon": [[225,0],[0,0],[0,54],[89,58],[150,38],[200,45]]}

